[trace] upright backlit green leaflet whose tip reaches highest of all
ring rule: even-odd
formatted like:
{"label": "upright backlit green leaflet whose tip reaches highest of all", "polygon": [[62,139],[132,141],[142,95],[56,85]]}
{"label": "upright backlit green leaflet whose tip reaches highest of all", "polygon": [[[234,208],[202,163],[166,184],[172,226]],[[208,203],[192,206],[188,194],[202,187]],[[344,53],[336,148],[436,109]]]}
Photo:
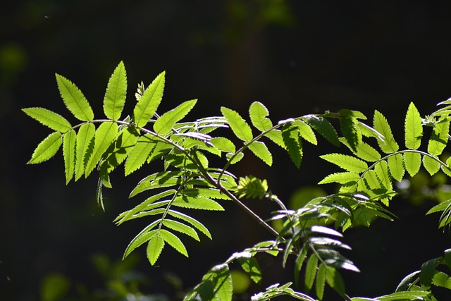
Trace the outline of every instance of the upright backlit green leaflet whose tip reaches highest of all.
{"label": "upright backlit green leaflet whose tip reaches highest of all", "polygon": [[106,86],[104,97],[104,113],[113,121],[121,118],[127,94],[127,73],[123,61],[114,69]]}

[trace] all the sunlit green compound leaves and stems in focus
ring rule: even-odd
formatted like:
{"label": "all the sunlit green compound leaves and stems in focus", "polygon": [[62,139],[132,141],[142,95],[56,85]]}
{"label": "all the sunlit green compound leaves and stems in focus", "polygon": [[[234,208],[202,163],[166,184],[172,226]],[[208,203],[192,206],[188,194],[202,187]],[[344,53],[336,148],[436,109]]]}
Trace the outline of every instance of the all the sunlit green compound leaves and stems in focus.
{"label": "all the sunlit green compound leaves and stems in focus", "polygon": [[[260,283],[261,252],[280,257],[283,266],[292,258],[293,282],[296,288],[303,287],[303,292],[292,288],[292,283],[274,284],[254,295],[252,300],[271,300],[278,295],[290,295],[298,300],[315,300],[311,297],[315,295],[322,300],[326,283],[345,300],[354,301],[435,300],[433,285],[451,289],[450,276],[437,269],[439,265],[451,268],[450,250],[404,278],[390,295],[351,298],[340,276],[342,269],[359,272],[342,254],[342,250],[350,250],[341,241],[342,232],[357,225],[370,226],[375,218],[392,220],[395,216],[388,208],[397,195],[396,181],[407,175],[415,176],[421,166],[431,176],[440,170],[451,176],[451,161],[442,156],[449,137],[450,99],[441,102],[440,109],[424,118],[410,104],[404,118],[404,147],[400,147],[387,118],[379,111],[374,112],[372,125],[365,123],[367,118],[363,113],[349,109],[273,123],[264,104],[254,102],[249,107],[250,123],[226,107],[221,108],[221,116],[183,121],[196,99],[156,113],[165,86],[163,72],[148,87],[138,85],[134,109],[124,117],[128,82],[121,62],[107,85],[105,118],[94,118],[94,111],[78,87],[61,75],[56,75],[56,80],[64,104],[80,122],[72,125],[48,109],[23,109],[28,116],[53,130],[39,143],[28,164],[47,161],[62,148],[66,183],[77,181],[83,175],[86,178],[97,170],[97,201],[104,208],[102,190],[112,187],[109,175],[118,166],[123,164],[128,176],[144,170],[145,164],[161,162],[159,171],[145,176],[130,193],[130,197],[148,195],[147,199],[115,220],[118,225],[133,219],[148,220],[147,226],[126,247],[124,258],[142,245],[147,245],[147,258],[152,265],[166,246],[187,257],[184,243],[187,237],[198,241],[204,236],[212,239],[209,228],[195,219],[192,211],[223,211],[222,204],[227,201],[237,204],[273,235],[273,240],[259,242],[211,268],[185,300],[232,300],[233,277],[229,268],[232,262],[238,262],[252,281]],[[230,130],[230,135],[216,135],[219,128]],[[342,169],[326,175],[319,183],[335,183],[338,192],[311,199],[298,209],[287,209],[269,190],[266,180],[252,175],[238,177],[229,171],[231,165],[248,154],[271,166],[273,156],[267,143],[286,151],[299,168],[304,143],[317,145],[319,136],[333,146],[345,145],[349,150],[320,156]],[[214,156],[216,159],[212,160]],[[212,166],[211,161],[221,161],[222,165]],[[242,202],[245,198],[275,202],[280,209],[273,212],[269,221],[280,221],[283,225],[280,231],[249,209]],[[438,226],[449,228],[451,199],[436,205],[428,214],[434,212],[442,212]]]}

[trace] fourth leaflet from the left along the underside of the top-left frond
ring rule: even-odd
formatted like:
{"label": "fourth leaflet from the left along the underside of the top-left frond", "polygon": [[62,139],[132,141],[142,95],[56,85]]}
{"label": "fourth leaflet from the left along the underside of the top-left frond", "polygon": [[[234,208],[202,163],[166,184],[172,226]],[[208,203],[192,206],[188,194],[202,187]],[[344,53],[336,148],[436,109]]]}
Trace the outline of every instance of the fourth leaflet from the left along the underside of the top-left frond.
{"label": "fourth leaflet from the left along the underside of the top-left frond", "polygon": [[117,133],[118,124],[114,122],[101,123],[99,128],[96,130],[94,150],[86,164],[85,178],[87,178],[87,176],[89,176],[89,173],[91,173],[97,166],[97,163],[99,163],[101,156],[111,145],[111,142],[113,142],[114,137],[116,137]]}

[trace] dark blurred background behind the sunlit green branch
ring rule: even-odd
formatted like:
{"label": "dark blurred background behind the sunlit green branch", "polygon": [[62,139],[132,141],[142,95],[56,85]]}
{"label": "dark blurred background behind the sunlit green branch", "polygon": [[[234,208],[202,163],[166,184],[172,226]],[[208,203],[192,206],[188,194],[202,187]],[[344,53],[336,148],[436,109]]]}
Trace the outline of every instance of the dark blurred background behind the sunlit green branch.
{"label": "dark blurred background behind the sunlit green branch", "polygon": [[[378,109],[397,128],[402,142],[409,102],[425,115],[451,95],[450,7],[437,3],[3,1],[0,299],[39,300],[44,279],[55,272],[70,281],[67,296],[72,300],[78,300],[81,287],[89,292],[104,289],[93,254],[119,261],[128,241],[145,226],[145,221],[121,227],[112,223],[121,210],[139,201],[127,199],[128,192],[145,173],[123,180],[117,171],[103,212],[94,199],[94,175],[65,185],[61,153],[44,164],[25,165],[50,131],[20,109],[42,106],[70,118],[54,73],[73,80],[98,116],[109,75],[123,60],[129,112],[137,83],[148,85],[166,70],[161,111],[193,98],[199,102],[191,118],[219,114],[220,106],[245,116],[256,100],[266,104],[274,121],[341,108],[357,109],[371,119]],[[271,171],[249,155],[248,165],[237,166],[235,172],[267,178],[271,190],[288,200],[328,172],[330,165],[317,156],[336,150],[324,141],[320,144],[307,147],[299,171],[280,153]],[[350,295],[393,292],[403,276],[443,254],[449,235],[437,230],[438,216],[424,218],[432,205],[413,206],[400,199],[393,207],[400,221],[378,221],[372,231],[346,233],[345,241],[354,249],[349,257],[362,270],[357,276],[345,273]],[[267,216],[273,208],[264,206]],[[140,263],[135,269],[149,279],[143,293],[175,299],[167,275],[180,277],[183,289],[189,288],[231,252],[270,238],[233,204],[225,207],[230,213],[199,217],[214,240],[203,238],[204,245],[186,240],[190,259],[168,248],[160,266],[150,267],[144,250],[136,251]],[[283,273],[280,263],[271,260],[264,264],[270,271],[268,283],[288,281],[291,271]]]}

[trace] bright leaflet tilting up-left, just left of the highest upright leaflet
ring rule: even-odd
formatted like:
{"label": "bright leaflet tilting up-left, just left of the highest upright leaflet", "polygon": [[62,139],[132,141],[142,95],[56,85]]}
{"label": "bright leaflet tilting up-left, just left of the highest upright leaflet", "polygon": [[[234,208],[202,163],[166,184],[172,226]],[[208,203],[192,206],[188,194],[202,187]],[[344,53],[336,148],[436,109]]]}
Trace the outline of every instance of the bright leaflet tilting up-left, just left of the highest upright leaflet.
{"label": "bright leaflet tilting up-left, just left of the highest upright leaflet", "polygon": [[73,113],[73,116],[80,121],[92,121],[94,112],[89,106],[85,95],[82,94],[78,87],[67,78],[58,74],[56,74],[56,82],[58,83],[58,90],[63,102],[69,111]]}

